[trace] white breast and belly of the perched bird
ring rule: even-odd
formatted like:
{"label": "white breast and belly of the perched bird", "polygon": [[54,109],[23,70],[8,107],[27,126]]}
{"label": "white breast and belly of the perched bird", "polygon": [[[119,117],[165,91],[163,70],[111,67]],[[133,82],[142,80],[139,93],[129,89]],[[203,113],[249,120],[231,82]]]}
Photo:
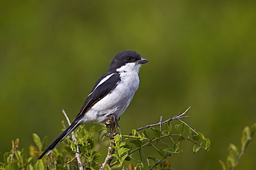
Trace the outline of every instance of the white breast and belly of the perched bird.
{"label": "white breast and belly of the perched bird", "polygon": [[82,121],[84,123],[100,123],[104,122],[111,114],[121,116],[131,103],[138,89],[140,83],[138,78],[139,68],[140,65],[127,63],[116,70],[120,74],[120,83],[110,94],[107,94],[107,96],[99,100],[98,103],[95,103],[95,105],[86,112]]}

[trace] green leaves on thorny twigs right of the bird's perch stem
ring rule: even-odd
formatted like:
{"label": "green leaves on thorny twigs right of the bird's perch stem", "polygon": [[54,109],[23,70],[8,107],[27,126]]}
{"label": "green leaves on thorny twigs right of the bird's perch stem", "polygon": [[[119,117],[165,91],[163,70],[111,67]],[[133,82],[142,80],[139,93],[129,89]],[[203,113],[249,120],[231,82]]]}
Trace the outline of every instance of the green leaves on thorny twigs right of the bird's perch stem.
{"label": "green leaves on thorny twigs right of the bird's perch stem", "polygon": [[[171,125],[165,124],[165,130],[155,129],[150,127],[145,129],[143,133],[139,133],[135,129],[131,131],[131,136],[119,135],[115,137],[116,147],[116,162],[113,164],[122,165],[124,160],[133,160],[136,162],[137,169],[143,169],[147,166],[148,169],[164,169],[170,168],[170,162],[168,162],[167,157],[173,156],[176,153],[181,153],[180,149],[181,141],[194,142],[193,151],[196,153],[199,149],[203,148],[205,150],[210,149],[210,140],[205,138],[203,134],[195,134],[190,130],[189,127],[185,126],[183,123],[175,126],[177,134],[174,134],[174,130]],[[132,145],[131,145],[132,144]],[[132,149],[132,146],[135,148]],[[146,156],[144,150],[150,147],[155,150],[157,156]],[[138,153],[140,159],[136,160],[134,154]],[[135,169],[134,165],[129,164],[129,169]]]}

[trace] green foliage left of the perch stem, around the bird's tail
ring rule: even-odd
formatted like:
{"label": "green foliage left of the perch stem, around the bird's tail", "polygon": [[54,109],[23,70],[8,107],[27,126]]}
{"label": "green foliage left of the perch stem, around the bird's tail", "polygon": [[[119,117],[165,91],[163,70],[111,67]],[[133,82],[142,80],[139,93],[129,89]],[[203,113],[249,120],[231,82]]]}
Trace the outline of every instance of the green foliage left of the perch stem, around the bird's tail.
{"label": "green foliage left of the perch stem, around the bird's tail", "polygon": [[83,165],[86,169],[97,169],[99,167],[98,157],[100,153],[95,150],[95,129],[91,127],[88,131],[80,126],[75,133],[77,144],[69,138],[66,138],[64,149],[61,151],[54,149],[49,156],[42,160],[37,160],[39,155],[46,149],[47,137],[43,140],[33,134],[35,146],[30,145],[29,156],[24,149],[19,150],[19,139],[12,140],[12,149],[4,154],[4,162],[0,162],[0,169],[77,169],[77,160],[75,160],[75,148],[80,146],[80,154],[83,159]]}

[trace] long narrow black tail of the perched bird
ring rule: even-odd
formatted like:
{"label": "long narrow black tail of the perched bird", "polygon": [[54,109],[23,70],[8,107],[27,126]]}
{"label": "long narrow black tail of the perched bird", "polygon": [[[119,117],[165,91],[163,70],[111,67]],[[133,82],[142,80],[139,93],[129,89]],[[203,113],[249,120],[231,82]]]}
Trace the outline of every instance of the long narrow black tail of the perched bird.
{"label": "long narrow black tail of the perched bird", "polygon": [[71,134],[72,131],[74,131],[77,127],[79,127],[80,122],[79,121],[74,121],[73,123],[71,123],[71,125],[66,128],[62,134],[60,134],[60,136],[58,136],[52,143],[50,146],[47,147],[47,149],[42,153],[41,156],[39,156],[38,159],[43,158],[43,156],[46,154],[46,156],[51,153],[51,151],[53,151],[53,149],[55,149],[55,147],[57,147],[57,145],[60,144],[60,142],[62,142],[62,140],[64,140],[64,138],[66,138],[66,136],[68,136],[68,134]]}

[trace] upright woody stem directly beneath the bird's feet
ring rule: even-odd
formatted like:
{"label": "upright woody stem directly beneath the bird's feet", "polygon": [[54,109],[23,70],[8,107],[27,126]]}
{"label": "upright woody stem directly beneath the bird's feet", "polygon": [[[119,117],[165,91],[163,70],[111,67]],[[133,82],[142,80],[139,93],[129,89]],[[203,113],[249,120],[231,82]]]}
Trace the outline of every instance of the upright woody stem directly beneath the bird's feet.
{"label": "upright woody stem directly beneath the bird's feet", "polygon": [[[113,116],[110,116],[109,119],[107,119],[106,125],[107,125],[107,127],[109,127],[109,135],[108,136],[111,140],[113,140],[114,136],[116,135],[115,118]],[[110,165],[111,161],[113,160],[112,154],[115,153],[115,149],[113,147],[111,147],[111,145],[115,145],[115,143],[109,142],[109,147],[107,149],[107,156],[106,156],[104,162],[101,164],[100,170],[103,170],[104,167],[106,166],[106,164]]]}

